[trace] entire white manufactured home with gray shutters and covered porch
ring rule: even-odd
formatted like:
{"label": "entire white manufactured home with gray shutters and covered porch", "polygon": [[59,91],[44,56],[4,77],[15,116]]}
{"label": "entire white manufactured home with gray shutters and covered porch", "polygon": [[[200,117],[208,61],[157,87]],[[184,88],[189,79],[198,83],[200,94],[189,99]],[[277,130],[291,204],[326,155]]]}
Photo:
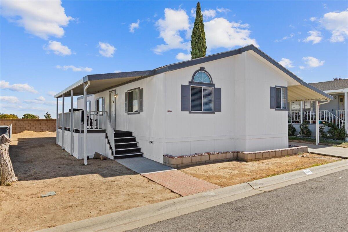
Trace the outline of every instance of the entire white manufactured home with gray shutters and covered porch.
{"label": "entire white manufactured home with gray shutters and covered porch", "polygon": [[87,75],[55,95],[57,112],[58,98],[64,109],[64,97],[79,95],[78,109],[57,113],[63,149],[78,159],[98,152],[158,162],[164,154],[287,148],[287,102],[333,99],[253,45],[154,70]]}

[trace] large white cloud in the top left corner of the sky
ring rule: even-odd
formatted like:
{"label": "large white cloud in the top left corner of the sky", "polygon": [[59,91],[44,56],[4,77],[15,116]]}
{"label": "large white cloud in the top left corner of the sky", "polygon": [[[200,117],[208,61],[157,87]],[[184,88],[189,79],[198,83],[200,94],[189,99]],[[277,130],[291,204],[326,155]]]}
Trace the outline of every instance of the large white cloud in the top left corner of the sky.
{"label": "large white cloud in the top left corner of the sky", "polygon": [[1,1],[1,15],[42,39],[61,38],[63,26],[73,20],[66,16],[61,1]]}

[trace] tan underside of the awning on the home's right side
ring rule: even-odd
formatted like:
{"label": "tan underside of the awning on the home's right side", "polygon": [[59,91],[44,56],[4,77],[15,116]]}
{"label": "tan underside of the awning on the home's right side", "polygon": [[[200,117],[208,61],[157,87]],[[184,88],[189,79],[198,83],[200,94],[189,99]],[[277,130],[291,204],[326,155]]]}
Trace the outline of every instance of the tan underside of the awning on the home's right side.
{"label": "tan underside of the awning on the home's right side", "polygon": [[287,87],[287,101],[326,101],[332,100],[333,97],[329,94],[324,93],[323,91],[310,86],[306,83],[302,85],[294,85]]}

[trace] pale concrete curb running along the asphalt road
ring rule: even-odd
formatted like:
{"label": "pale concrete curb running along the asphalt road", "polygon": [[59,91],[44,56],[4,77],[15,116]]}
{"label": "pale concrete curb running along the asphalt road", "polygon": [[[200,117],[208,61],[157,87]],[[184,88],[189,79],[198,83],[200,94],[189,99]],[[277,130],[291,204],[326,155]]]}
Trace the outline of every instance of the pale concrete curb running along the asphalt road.
{"label": "pale concrete curb running along the asphalt road", "polygon": [[89,218],[82,221],[72,222],[56,226],[39,232],[80,232],[80,231],[103,231],[116,232],[131,230],[137,227],[164,221],[184,214],[192,213],[201,209],[221,205],[230,201],[245,198],[251,195],[263,193],[306,181],[307,179],[334,173],[348,169],[348,160],[328,163],[309,168],[313,174],[307,175],[303,170],[294,171],[278,176],[268,177],[247,183],[232,185],[208,192],[197,193],[173,200],[158,202],[148,206],[128,209],[117,213]]}

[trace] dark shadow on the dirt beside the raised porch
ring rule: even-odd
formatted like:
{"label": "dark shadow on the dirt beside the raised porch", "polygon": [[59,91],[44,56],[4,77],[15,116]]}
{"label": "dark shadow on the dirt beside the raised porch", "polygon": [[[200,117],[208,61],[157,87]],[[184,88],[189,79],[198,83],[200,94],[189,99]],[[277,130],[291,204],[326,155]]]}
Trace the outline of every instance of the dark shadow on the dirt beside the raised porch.
{"label": "dark shadow on the dirt beside the raised porch", "polygon": [[114,160],[77,160],[56,144],[56,137],[14,138],[9,147],[16,176],[21,181],[99,174],[115,177],[137,174]]}

